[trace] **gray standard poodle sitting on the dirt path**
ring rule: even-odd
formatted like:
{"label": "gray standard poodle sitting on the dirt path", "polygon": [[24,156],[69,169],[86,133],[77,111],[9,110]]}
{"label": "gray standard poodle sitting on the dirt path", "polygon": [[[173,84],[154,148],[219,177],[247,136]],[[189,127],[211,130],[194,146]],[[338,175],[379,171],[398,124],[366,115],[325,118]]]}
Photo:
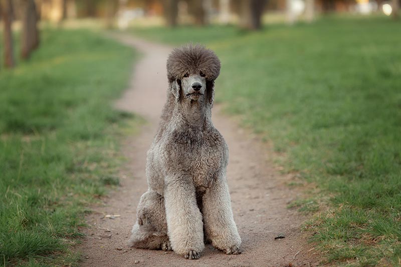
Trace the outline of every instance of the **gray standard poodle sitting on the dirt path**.
{"label": "gray standard poodle sitting on the dirt path", "polygon": [[197,259],[205,238],[227,254],[241,253],[226,179],[228,146],[211,119],[219,73],[216,54],[199,45],[168,57],[167,101],[147,153],[149,189],[139,201],[130,246]]}

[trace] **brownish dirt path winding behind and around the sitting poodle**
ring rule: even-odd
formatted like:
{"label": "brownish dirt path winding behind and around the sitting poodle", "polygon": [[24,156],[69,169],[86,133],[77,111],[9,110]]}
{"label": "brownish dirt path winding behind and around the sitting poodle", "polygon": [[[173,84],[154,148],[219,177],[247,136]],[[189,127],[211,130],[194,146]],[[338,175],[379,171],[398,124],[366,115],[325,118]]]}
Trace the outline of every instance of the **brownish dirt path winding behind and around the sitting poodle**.
{"label": "brownish dirt path winding behind and around the sitting poodle", "polygon": [[[144,54],[136,64],[130,88],[117,106],[140,114],[148,123],[139,135],[124,142],[123,152],[129,158],[129,164],[121,171],[121,187],[87,217],[91,227],[85,230],[88,236],[81,246],[82,265],[312,266],[316,259],[312,259],[312,252],[307,252],[310,247],[306,237],[300,233],[303,218],[296,211],[286,208],[297,192],[289,190],[284,185],[288,178],[279,175],[272,167],[266,145],[221,115],[219,107],[213,110],[213,122],[230,148],[228,181],[243,254],[226,255],[207,245],[200,259],[187,260],[173,252],[126,246],[136,219],[136,206],[147,190],[144,171],[146,151],[155,134],[165,100],[165,63],[170,48],[123,35],[114,35],[114,38]],[[219,90],[218,87],[216,89]],[[120,214],[121,217],[104,218],[106,214]],[[275,240],[280,232],[285,233],[285,238]]]}

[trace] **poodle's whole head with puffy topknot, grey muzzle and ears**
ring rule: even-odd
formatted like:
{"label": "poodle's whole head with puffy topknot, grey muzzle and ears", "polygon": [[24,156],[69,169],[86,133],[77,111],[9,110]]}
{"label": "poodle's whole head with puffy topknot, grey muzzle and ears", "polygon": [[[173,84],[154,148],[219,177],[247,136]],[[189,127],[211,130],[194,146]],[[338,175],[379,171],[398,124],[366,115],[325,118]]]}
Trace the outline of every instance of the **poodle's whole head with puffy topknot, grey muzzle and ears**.
{"label": "poodle's whole head with puffy topknot, grey muzzle and ears", "polygon": [[201,45],[176,48],[167,59],[167,78],[177,101],[207,100],[213,104],[215,80],[219,74],[219,58]]}

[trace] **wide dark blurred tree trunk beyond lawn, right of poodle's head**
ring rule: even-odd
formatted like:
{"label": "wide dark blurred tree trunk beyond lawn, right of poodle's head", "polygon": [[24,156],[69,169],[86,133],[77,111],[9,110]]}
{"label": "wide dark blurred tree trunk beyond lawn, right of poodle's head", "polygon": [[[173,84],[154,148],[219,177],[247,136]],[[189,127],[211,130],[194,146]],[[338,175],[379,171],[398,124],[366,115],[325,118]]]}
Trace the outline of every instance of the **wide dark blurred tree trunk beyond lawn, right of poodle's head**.
{"label": "wide dark blurred tree trunk beyond lawn, right of poodle's head", "polygon": [[258,30],[262,27],[265,0],[242,0],[240,4],[240,27],[245,30]]}

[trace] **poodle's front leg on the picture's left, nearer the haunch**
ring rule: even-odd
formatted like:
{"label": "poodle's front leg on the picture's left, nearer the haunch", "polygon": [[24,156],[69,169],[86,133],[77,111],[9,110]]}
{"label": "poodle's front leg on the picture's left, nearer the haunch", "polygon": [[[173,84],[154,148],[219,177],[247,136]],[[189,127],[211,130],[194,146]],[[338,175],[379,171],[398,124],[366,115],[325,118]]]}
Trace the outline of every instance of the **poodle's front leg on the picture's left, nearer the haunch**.
{"label": "poodle's front leg on the picture's left, nearer the haunch", "polygon": [[168,176],[164,184],[168,237],[174,252],[198,259],[204,249],[202,214],[196,204],[192,179]]}

